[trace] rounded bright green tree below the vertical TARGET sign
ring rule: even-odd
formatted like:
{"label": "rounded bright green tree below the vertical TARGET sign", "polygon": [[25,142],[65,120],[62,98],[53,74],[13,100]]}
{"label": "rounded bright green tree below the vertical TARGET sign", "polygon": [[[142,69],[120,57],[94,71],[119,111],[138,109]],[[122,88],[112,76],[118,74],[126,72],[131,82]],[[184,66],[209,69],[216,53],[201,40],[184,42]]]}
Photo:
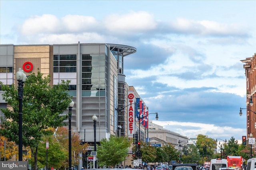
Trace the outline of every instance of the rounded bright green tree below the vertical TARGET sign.
{"label": "rounded bright green tree below the vertical TARGET sign", "polygon": [[128,155],[130,141],[126,136],[116,137],[114,134],[110,138],[100,140],[100,146],[97,146],[97,157],[100,166],[115,166],[124,161]]}

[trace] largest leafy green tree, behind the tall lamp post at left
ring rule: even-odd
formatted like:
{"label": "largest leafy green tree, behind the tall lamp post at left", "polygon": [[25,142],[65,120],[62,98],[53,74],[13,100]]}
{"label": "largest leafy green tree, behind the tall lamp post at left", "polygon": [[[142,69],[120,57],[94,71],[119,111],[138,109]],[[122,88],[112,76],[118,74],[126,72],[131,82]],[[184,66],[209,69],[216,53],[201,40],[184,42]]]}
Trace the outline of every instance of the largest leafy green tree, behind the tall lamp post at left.
{"label": "largest leafy green tree, behind the tall lamp post at left", "polygon": [[[22,108],[22,141],[29,146],[34,156],[34,169],[37,167],[39,142],[47,134],[52,134],[49,127],[57,128],[65,125],[67,110],[72,97],[68,93],[70,81],[62,81],[58,85],[50,86],[50,76],[44,76],[40,71],[31,73],[24,83]],[[2,85],[3,99],[12,109],[1,109],[6,120],[2,120],[0,134],[10,138],[18,144],[18,90],[14,84],[9,87]]]}

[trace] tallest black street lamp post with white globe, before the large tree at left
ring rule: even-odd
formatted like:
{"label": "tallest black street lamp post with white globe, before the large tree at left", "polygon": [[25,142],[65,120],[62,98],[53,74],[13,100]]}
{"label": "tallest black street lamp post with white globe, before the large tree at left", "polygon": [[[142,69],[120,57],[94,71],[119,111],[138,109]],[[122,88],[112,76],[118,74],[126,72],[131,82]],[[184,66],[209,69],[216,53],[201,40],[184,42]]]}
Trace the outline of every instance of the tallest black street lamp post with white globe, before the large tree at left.
{"label": "tallest black street lamp post with white globe, before the large tree at left", "polygon": [[26,74],[19,68],[16,73],[18,80],[18,97],[19,97],[19,161],[22,161],[22,99],[23,99],[23,86],[26,80]]}

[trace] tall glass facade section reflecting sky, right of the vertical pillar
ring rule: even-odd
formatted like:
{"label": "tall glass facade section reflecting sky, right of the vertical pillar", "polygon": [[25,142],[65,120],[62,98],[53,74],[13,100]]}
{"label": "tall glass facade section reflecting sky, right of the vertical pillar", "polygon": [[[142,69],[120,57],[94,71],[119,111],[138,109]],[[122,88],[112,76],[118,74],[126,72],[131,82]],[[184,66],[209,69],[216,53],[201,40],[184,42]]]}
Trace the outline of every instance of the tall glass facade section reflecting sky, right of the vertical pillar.
{"label": "tall glass facade section reflecting sky, right of the vertical pillar", "polygon": [[82,54],[82,127],[92,127],[96,115],[99,127],[108,125],[108,56],[106,53]]}

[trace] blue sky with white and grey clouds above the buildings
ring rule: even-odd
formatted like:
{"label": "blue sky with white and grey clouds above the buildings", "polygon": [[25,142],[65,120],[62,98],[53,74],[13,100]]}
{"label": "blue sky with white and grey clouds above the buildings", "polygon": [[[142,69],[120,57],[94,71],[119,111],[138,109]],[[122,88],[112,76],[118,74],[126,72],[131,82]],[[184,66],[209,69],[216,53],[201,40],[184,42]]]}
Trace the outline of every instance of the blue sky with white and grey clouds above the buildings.
{"label": "blue sky with white and grey clouds above the buildings", "polygon": [[[256,53],[256,1],[0,1],[1,44],[116,43],[126,82],[164,128],[246,135],[243,63]],[[245,110],[243,110],[245,113]],[[150,117],[154,120],[154,115]]]}

